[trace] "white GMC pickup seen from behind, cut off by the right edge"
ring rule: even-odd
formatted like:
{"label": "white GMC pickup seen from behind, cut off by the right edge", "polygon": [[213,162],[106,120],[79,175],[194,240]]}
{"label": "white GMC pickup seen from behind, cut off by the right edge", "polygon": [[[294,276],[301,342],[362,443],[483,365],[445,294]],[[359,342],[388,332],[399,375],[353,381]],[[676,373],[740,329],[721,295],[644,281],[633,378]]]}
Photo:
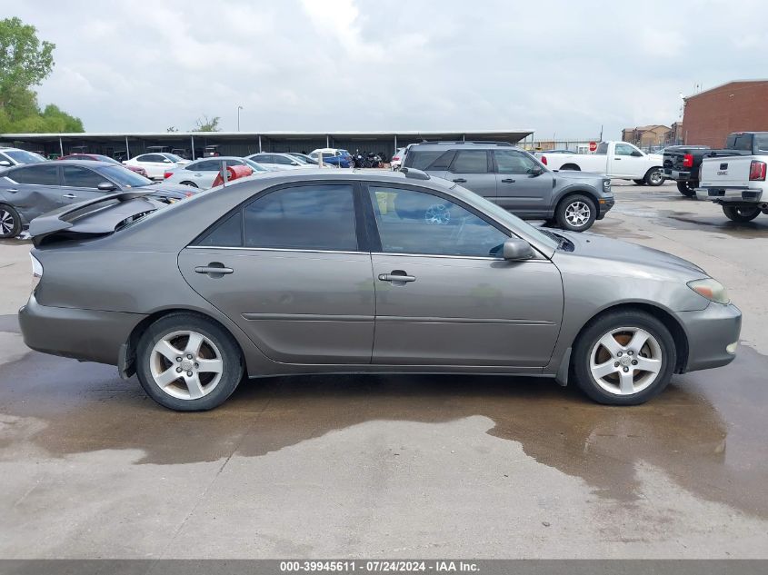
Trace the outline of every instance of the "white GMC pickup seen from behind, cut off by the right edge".
{"label": "white GMC pickup seen from behind, cut off by the right edge", "polygon": [[733,150],[715,150],[702,161],[699,200],[723,207],[733,222],[751,222],[768,214],[768,132],[739,132]]}

